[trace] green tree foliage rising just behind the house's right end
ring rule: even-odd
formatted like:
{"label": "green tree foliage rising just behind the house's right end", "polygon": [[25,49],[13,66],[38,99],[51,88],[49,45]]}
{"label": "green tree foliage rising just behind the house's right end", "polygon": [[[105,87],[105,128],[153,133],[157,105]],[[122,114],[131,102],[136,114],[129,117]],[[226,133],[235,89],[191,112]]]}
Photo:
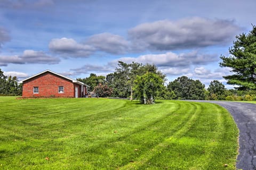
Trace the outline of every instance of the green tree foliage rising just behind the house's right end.
{"label": "green tree foliage rising just behind the house's right end", "polygon": [[90,86],[88,88],[89,91],[93,91],[94,87],[98,86],[98,84],[100,84],[100,83],[104,84],[105,83],[105,77],[103,75],[97,76],[94,73],[91,73],[90,77],[87,77],[87,78],[84,78],[84,79],[78,78],[77,80],[87,84],[88,86]]}

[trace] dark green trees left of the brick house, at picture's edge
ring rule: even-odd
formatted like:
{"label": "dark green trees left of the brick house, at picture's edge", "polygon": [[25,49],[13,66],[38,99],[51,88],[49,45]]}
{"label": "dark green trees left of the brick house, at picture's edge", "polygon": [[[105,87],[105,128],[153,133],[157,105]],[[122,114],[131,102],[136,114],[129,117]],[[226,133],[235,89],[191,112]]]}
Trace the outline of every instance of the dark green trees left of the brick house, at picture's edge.
{"label": "dark green trees left of the brick house, at picture's edge", "polygon": [[0,69],[0,96],[20,96],[22,85],[18,84],[17,77],[7,77]]}

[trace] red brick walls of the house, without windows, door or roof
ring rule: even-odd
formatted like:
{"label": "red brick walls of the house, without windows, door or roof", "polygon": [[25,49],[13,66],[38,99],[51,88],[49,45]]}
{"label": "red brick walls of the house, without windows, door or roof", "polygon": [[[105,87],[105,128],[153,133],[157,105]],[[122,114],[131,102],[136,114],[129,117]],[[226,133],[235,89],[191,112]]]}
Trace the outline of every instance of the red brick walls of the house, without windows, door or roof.
{"label": "red brick walls of the house, without windows, door or roof", "polygon": [[[64,87],[63,94],[59,94],[59,86]],[[75,97],[75,86],[78,87],[78,97],[80,97],[79,85],[46,72],[23,82],[22,97]],[[39,87],[38,94],[33,93],[33,87]]]}

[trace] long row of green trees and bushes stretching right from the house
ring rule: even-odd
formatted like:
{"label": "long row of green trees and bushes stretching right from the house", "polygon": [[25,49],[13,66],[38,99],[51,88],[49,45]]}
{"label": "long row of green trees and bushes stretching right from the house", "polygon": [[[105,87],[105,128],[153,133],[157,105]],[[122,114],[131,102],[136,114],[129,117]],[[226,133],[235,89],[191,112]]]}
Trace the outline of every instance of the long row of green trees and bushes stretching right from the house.
{"label": "long row of green trees and bushes stretching right from the house", "polygon": [[154,64],[127,64],[119,61],[113,73],[106,77],[90,74],[77,79],[90,86],[99,97],[138,99],[141,103],[154,103],[155,99],[180,100],[256,100],[255,90],[226,89],[218,80],[209,87],[199,80],[179,77],[164,86],[165,75]]}

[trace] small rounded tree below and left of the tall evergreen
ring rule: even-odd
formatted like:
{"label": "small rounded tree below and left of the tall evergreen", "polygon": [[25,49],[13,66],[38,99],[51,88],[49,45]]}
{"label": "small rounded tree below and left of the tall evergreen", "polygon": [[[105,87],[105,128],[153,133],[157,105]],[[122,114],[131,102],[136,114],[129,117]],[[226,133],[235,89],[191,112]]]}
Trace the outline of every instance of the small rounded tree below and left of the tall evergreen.
{"label": "small rounded tree below and left of the tall evergreen", "polygon": [[209,88],[207,88],[207,90],[209,91],[209,96],[210,99],[225,99],[225,91],[226,88],[225,86],[219,82],[218,80],[213,80],[211,81]]}

